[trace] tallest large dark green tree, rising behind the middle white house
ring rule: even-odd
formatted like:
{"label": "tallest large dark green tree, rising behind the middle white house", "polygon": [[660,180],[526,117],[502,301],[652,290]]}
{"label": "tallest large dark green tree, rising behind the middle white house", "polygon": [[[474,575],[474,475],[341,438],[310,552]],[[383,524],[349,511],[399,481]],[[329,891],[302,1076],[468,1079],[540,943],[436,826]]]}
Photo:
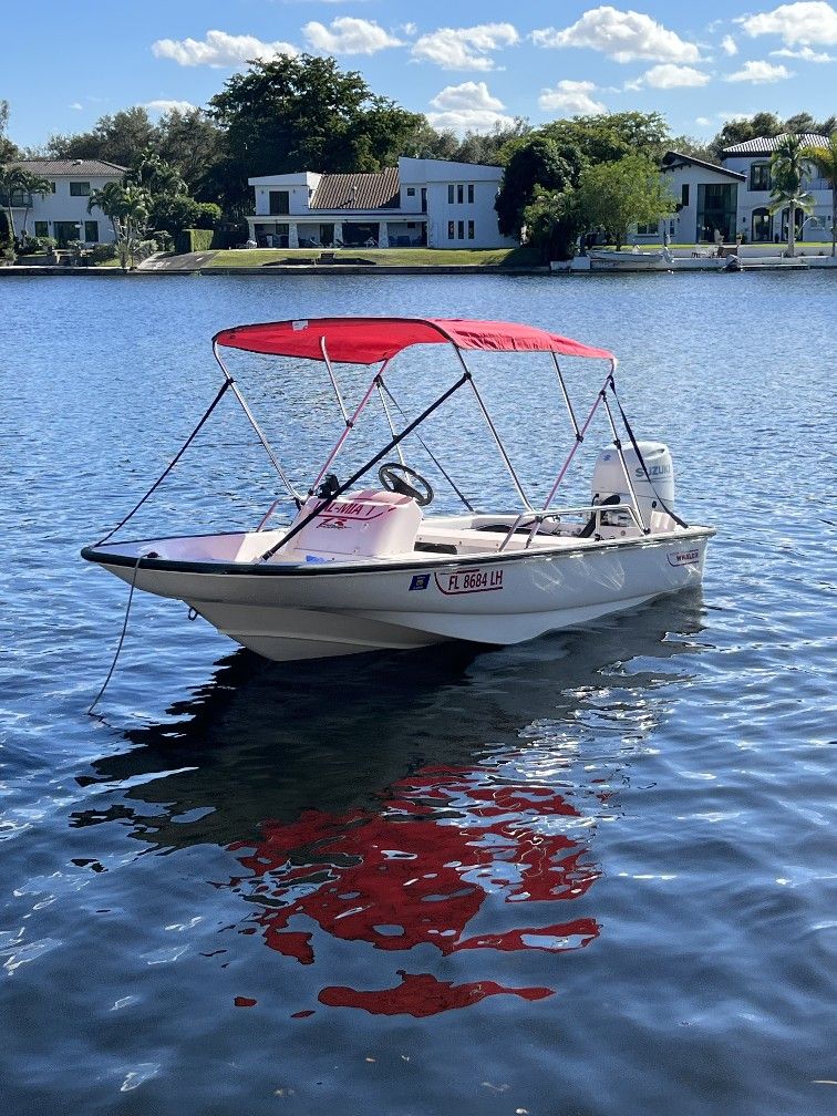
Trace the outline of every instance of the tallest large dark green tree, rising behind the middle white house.
{"label": "tallest large dark green tree, rising behind the middle white house", "polygon": [[307,167],[378,171],[392,165],[423,117],[372,94],[334,58],[257,60],[210,100],[223,133],[213,185],[233,212],[251,204],[247,180]]}

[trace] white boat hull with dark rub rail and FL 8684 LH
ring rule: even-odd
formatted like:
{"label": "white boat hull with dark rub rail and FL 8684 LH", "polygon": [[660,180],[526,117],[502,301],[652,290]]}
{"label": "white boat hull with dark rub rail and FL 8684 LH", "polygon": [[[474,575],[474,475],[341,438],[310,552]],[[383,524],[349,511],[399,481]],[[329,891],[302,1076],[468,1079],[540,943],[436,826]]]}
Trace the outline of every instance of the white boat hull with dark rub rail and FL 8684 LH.
{"label": "white boat hull with dark rub rail and FL 8684 LH", "polygon": [[[368,565],[175,557],[187,548],[193,556],[195,539],[92,547],[85,557],[128,584],[136,578],[137,589],[185,602],[242,646],[287,661],[448,639],[514,644],[585,624],[699,585],[713,533],[698,527],[645,538],[574,540],[546,552]],[[233,541],[231,552],[237,547]],[[170,557],[143,558],[135,569],[137,556],[148,550]]]}

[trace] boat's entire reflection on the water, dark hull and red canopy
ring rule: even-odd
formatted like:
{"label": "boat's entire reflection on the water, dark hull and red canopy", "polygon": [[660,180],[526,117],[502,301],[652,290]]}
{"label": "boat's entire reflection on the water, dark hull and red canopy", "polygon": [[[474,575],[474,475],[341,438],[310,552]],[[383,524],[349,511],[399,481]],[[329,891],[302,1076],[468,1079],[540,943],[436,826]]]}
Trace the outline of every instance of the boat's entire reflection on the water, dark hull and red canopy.
{"label": "boat's entire reflection on the water, dark hull and red canopy", "polygon": [[113,800],[75,822],[227,849],[238,867],[215,886],[247,913],[219,954],[260,935],[310,966],[297,1016],[549,997],[555,956],[600,933],[597,830],[702,647],[700,612],[682,596],[593,633],[376,657],[374,672],[239,652],[179,722],[94,764],[79,781]]}

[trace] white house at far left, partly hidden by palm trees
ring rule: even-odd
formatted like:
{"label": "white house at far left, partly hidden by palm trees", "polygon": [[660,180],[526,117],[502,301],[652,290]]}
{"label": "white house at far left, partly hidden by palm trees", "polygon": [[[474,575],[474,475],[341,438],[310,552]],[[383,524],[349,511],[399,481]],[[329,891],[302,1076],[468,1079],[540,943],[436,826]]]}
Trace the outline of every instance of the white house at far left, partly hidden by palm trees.
{"label": "white house at far left, partly hidden by palm trees", "polygon": [[10,165],[37,174],[51,185],[50,192],[44,195],[29,196],[20,192],[12,195],[18,235],[23,232],[26,222],[30,235],[52,237],[59,248],[71,240],[87,244],[113,243],[115,237],[109,218],[98,206],[88,213],[87,202],[95,190],[108,182],[121,182],[124,166],[97,158],[21,158]]}

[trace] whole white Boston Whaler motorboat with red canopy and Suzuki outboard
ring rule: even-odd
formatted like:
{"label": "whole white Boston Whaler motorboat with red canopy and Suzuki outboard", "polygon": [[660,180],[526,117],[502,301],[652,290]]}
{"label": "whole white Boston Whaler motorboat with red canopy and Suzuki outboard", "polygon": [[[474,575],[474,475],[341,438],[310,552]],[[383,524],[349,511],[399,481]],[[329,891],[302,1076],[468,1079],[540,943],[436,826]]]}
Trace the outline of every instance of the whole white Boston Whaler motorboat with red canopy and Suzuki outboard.
{"label": "whole white Boston Whaler motorboat with red canopy and Suzuki outboard", "polygon": [[[434,350],[433,374],[425,374],[423,383],[436,376],[441,383],[432,384],[432,402],[408,419],[392,405],[393,363],[400,367],[415,347],[430,345],[452,349],[453,371],[439,371]],[[195,431],[122,522],[81,551],[87,561],[128,584],[132,596],[138,589],[184,602],[191,618],[200,615],[259,655],[288,661],[445,641],[516,644],[700,585],[714,530],[687,526],[675,512],[671,453],[662,442],[635,437],[616,392],[617,362],[606,349],[516,323],[392,317],[235,326],[217,334],[212,348],[223,383]],[[296,358],[300,371],[317,371],[324,383],[328,376],[344,427],[307,491],[296,490],[228,369],[232,350]],[[480,365],[474,368],[466,362],[479,350],[492,354],[488,371],[483,360],[472,359]],[[488,377],[504,377],[502,384],[511,389],[516,363],[531,354],[549,354],[549,378],[568,420],[567,452],[539,501],[527,494],[483,397]],[[571,401],[566,362],[559,357],[606,366],[602,386],[581,411]],[[419,363],[429,367],[426,359]],[[354,410],[340,389],[336,368],[341,364],[369,371]],[[241,404],[288,498],[278,497],[254,527],[232,532],[114,539],[228,392]],[[440,407],[453,406],[454,396],[456,403],[466,401],[484,424],[498,464],[517,492],[519,503],[511,510],[474,507],[423,440],[427,420]],[[369,410],[383,426],[378,402],[388,436],[339,480],[337,459]],[[538,413],[541,406],[539,398]],[[566,491],[568,470],[597,413],[610,441],[595,462],[589,500],[559,506],[556,497],[562,483]],[[398,414],[400,429],[394,422]],[[547,427],[538,422],[531,429]],[[405,458],[405,451],[421,452],[419,446],[458,493],[462,512],[427,511],[432,485]],[[289,521],[272,522],[283,499]],[[129,603],[131,597],[128,608]]]}

